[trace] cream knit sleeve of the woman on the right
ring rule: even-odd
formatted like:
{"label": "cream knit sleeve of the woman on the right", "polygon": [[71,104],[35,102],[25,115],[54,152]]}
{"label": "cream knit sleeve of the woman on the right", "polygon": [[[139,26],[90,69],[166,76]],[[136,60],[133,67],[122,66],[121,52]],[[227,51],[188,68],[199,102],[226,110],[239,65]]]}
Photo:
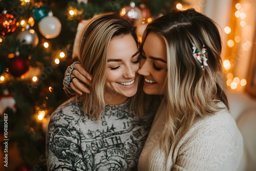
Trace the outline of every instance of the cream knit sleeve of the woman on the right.
{"label": "cream knit sleeve of the woman on the right", "polygon": [[200,121],[178,146],[172,170],[236,170],[243,154],[243,139],[231,115]]}

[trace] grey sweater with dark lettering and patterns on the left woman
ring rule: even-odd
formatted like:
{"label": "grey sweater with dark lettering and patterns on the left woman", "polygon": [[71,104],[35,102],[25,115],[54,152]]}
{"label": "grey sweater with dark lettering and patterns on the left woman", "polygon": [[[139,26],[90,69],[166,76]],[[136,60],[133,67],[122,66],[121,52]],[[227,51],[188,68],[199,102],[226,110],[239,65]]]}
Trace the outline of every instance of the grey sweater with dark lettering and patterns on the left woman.
{"label": "grey sweater with dark lettering and patterns on the left woman", "polygon": [[98,121],[74,98],[61,104],[47,133],[48,170],[136,170],[156,110],[138,119],[130,101],[106,105]]}

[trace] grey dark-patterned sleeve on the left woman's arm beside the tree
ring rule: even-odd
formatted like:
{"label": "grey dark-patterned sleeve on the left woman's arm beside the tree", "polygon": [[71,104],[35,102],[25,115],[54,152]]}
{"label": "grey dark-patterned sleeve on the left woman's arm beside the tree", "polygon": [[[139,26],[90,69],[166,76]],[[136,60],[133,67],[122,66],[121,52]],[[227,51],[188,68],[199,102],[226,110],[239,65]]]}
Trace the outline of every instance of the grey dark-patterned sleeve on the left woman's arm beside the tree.
{"label": "grey dark-patterned sleeve on the left woman's arm beside the tree", "polygon": [[79,131],[72,124],[76,118],[65,113],[67,111],[60,108],[53,113],[49,122],[46,140],[47,168],[48,170],[85,170]]}

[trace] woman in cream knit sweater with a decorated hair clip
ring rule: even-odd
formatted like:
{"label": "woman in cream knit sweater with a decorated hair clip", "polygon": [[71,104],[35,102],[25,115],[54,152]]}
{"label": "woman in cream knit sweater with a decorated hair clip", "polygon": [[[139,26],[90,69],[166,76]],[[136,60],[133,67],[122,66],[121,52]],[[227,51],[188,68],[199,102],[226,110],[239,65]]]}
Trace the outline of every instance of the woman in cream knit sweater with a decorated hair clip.
{"label": "woman in cream knit sweater with a decorated hair clip", "polygon": [[143,91],[162,101],[138,170],[238,168],[243,139],[228,111],[221,50],[215,23],[194,9],[148,24],[138,73],[144,76]]}

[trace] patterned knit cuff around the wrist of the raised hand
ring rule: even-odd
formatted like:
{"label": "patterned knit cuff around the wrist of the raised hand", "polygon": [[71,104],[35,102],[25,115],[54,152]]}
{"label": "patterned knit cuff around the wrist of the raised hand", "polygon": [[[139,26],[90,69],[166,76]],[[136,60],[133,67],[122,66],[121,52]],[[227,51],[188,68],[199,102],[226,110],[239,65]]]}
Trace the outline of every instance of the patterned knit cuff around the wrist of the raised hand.
{"label": "patterned knit cuff around the wrist of the raised hand", "polygon": [[76,93],[74,90],[71,89],[71,87],[69,85],[70,81],[71,81],[70,76],[71,76],[72,71],[75,68],[76,63],[79,63],[79,61],[73,62],[72,65],[69,66],[68,69],[65,72],[65,77],[64,77],[64,80],[63,80],[63,86],[64,86],[64,90],[65,90],[66,94],[75,95],[75,93]]}

